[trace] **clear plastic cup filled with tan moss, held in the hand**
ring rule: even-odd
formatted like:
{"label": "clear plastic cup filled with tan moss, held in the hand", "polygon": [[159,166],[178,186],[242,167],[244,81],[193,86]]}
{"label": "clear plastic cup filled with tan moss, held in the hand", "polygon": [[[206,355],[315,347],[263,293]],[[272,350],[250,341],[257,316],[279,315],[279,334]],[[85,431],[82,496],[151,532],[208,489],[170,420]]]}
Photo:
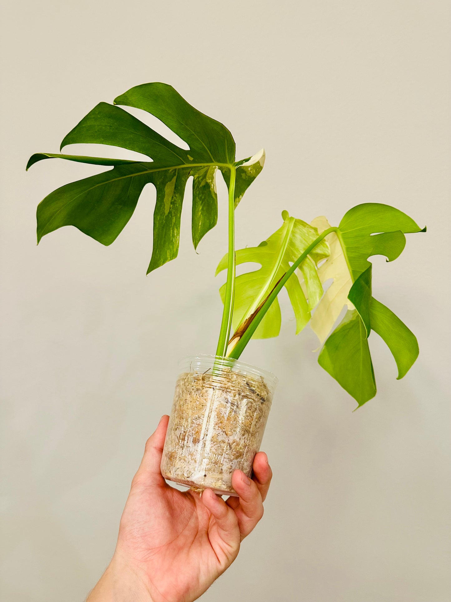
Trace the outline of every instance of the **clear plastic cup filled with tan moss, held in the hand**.
{"label": "clear plastic cup filled with tan moss, held in the hand", "polygon": [[233,471],[251,477],[276,385],[274,374],[238,360],[183,359],[161,460],[164,478],[238,495]]}

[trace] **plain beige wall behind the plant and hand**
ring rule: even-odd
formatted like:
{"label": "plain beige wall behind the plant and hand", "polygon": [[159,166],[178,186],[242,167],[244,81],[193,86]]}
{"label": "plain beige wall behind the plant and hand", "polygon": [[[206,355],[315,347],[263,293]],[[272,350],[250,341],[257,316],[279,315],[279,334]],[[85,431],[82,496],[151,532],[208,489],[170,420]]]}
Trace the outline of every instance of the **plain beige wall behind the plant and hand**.
{"label": "plain beige wall behind the plant and hand", "polygon": [[224,184],[200,254],[186,202],[179,258],[148,278],[151,187],[111,247],[75,228],[35,246],[38,201],[103,168],[25,173],[29,155],[58,152],[97,102],[165,81],[230,128],[238,157],[266,148],[239,245],[284,208],[338,223],[385,202],[428,225],[396,262],[375,260],[377,296],[421,352],[397,382],[373,334],[379,393],[364,408],[352,414],[316,363],[313,333],[295,337],[286,300],[281,336],[248,347],[280,378],[264,441],[274,485],[204,600],[449,600],[450,2],[15,0],[2,13],[1,599],[84,599],[177,360],[215,349]]}

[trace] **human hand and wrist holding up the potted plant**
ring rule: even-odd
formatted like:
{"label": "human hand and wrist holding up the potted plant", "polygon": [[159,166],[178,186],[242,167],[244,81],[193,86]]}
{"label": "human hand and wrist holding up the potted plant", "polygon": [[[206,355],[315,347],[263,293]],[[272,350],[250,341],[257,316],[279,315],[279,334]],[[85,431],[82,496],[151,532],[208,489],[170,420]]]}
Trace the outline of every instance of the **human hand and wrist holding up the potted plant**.
{"label": "human hand and wrist holding up the potted plant", "polygon": [[239,546],[263,516],[272,472],[265,453],[254,476],[233,473],[239,497],[211,489],[179,491],[162,477],[160,462],[168,416],[152,436],[121,517],[111,563],[87,602],[191,602],[235,560]]}

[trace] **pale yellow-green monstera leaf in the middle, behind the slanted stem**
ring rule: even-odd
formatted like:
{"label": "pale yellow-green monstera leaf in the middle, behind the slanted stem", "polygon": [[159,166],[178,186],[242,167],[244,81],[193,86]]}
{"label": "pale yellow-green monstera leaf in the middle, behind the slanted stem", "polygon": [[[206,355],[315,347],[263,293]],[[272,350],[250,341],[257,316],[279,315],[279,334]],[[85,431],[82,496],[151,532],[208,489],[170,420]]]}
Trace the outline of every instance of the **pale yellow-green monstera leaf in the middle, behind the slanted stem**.
{"label": "pale yellow-green monstera leaf in the middle, behind the slanted stem", "polygon": [[[318,237],[318,230],[306,222],[290,217],[282,212],[283,225],[258,247],[247,247],[236,251],[236,264],[248,262],[260,264],[260,268],[236,278],[235,304],[233,307],[233,327],[248,320],[259,308],[269,291],[289,269],[308,245]],[[322,242],[299,266],[299,275],[305,282],[306,294],[298,278],[290,278],[286,290],[296,317],[296,334],[301,332],[310,320],[310,311],[321,299],[323,289],[316,273],[317,262],[329,254],[327,243]],[[227,268],[228,255],[219,262],[216,275]],[[225,284],[219,290],[222,302],[225,296]],[[254,333],[254,338],[277,337],[280,332],[280,306],[275,300],[266,312]]]}

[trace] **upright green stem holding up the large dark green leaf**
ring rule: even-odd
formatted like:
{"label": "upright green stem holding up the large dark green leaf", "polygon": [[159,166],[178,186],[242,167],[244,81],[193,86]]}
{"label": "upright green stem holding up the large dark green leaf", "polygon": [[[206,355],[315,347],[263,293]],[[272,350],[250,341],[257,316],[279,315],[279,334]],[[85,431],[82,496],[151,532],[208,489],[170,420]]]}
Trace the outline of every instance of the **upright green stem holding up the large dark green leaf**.
{"label": "upright green stem holding up the large dark green leaf", "polygon": [[229,182],[229,257],[227,263],[227,284],[225,285],[224,311],[222,312],[216,355],[225,356],[232,328],[233,301],[235,299],[235,179],[236,169],[230,167]]}

